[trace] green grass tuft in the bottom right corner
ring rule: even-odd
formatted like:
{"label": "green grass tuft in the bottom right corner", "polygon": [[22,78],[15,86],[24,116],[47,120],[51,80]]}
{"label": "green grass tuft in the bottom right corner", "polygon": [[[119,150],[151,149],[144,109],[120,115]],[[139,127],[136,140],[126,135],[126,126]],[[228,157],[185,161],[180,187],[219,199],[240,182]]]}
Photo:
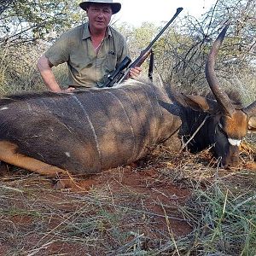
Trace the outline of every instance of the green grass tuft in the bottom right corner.
{"label": "green grass tuft in the bottom right corner", "polygon": [[218,183],[207,190],[195,190],[190,211],[197,217],[194,250],[225,255],[256,253],[256,191],[246,193]]}

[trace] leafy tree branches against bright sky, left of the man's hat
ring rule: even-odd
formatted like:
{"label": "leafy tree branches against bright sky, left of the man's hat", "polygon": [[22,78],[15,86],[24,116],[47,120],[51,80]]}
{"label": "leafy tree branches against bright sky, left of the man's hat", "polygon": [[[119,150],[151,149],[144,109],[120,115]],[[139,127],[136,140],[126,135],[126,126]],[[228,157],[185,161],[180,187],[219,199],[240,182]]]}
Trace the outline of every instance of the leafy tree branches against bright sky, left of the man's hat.
{"label": "leafy tree branches against bright sky, left of the man's hat", "polygon": [[0,13],[0,45],[35,41],[55,36],[82,20],[79,1],[19,0]]}

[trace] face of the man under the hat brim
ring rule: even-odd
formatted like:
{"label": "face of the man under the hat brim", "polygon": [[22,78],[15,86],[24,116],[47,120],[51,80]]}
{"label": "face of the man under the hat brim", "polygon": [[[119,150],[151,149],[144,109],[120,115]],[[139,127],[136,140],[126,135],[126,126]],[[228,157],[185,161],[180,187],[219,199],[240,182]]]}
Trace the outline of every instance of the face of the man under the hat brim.
{"label": "face of the man under the hat brim", "polygon": [[111,20],[112,9],[109,4],[92,3],[87,9],[87,15],[90,27],[102,30],[106,29]]}

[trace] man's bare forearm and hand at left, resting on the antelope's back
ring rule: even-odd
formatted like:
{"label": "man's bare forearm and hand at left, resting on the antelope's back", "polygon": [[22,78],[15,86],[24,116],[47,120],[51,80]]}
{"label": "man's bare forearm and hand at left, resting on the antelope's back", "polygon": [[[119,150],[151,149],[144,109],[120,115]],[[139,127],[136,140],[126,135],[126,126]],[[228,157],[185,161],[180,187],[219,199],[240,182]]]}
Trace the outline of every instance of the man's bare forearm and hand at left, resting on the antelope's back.
{"label": "man's bare forearm and hand at left, resting on the antelope's back", "polygon": [[[55,79],[55,75],[52,72],[53,65],[49,62],[49,60],[45,57],[45,55],[41,56],[38,60],[38,70],[41,73],[41,76],[44,80],[44,84],[49,88],[49,90],[54,92],[61,92],[61,87],[57,83]],[[73,88],[68,88],[64,90],[65,92],[71,91]]]}

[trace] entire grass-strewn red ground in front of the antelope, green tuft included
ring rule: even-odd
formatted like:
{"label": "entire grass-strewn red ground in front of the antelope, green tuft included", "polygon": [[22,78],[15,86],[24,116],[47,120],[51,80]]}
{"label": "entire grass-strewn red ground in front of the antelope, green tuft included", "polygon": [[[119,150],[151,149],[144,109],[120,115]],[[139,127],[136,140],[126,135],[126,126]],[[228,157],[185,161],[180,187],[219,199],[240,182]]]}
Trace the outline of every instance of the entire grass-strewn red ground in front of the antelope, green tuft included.
{"label": "entire grass-strewn red ground in front of the antelope, green tuft included", "polygon": [[253,137],[231,170],[210,150],[159,147],[80,180],[85,190],[76,191],[9,170],[0,183],[0,254],[255,255],[255,155]]}

